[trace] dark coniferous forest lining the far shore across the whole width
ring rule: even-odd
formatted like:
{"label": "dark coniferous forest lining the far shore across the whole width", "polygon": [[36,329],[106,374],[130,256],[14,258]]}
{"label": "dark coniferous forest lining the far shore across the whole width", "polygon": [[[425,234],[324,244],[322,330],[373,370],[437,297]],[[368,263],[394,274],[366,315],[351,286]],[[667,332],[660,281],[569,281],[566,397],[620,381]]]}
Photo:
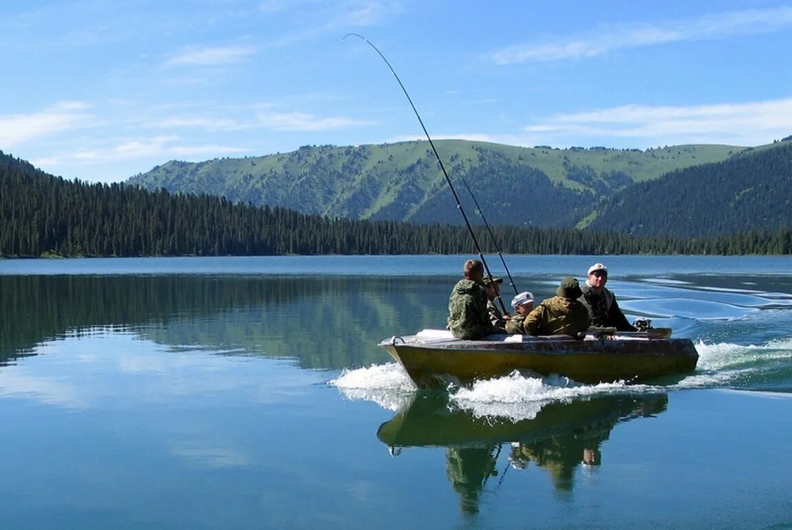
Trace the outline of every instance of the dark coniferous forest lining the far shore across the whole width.
{"label": "dark coniferous forest lining the far shore across the whole width", "polygon": [[[0,256],[223,256],[474,254],[466,227],[353,221],[209,195],[149,192],[67,181],[0,152]],[[485,227],[485,253],[790,254],[792,234],[747,231],[718,238],[636,237],[562,228]]]}

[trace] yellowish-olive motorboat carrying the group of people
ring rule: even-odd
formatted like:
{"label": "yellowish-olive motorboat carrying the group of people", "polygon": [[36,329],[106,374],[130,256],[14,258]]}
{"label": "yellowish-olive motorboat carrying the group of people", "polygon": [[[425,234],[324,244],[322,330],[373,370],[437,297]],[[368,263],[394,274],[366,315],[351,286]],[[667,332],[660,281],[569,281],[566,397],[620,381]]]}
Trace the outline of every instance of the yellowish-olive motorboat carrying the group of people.
{"label": "yellowish-olive motorboat carrying the group of people", "polygon": [[419,388],[492,379],[515,370],[537,376],[557,374],[578,383],[638,382],[693,372],[699,360],[693,342],[672,338],[668,328],[632,332],[604,328],[589,330],[583,339],[496,334],[477,341],[455,338],[449,330],[421,330],[387,338],[379,346]]}

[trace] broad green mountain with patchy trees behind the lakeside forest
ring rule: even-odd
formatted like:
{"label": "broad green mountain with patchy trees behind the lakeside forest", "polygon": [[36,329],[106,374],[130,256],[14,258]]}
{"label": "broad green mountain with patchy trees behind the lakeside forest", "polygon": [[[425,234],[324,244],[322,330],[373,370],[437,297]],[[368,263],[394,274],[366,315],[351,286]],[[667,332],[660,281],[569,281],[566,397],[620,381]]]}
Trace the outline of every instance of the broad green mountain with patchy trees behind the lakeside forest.
{"label": "broad green mountain with patchy trees behind the lakeside forest", "polygon": [[[562,150],[466,140],[439,140],[435,145],[471,223],[479,219],[468,187],[488,223],[535,227],[575,227],[592,217],[600,200],[620,190],[747,149],[686,145],[646,151]],[[128,183],[331,218],[463,222],[426,141],[305,146],[254,158],[171,161]]]}

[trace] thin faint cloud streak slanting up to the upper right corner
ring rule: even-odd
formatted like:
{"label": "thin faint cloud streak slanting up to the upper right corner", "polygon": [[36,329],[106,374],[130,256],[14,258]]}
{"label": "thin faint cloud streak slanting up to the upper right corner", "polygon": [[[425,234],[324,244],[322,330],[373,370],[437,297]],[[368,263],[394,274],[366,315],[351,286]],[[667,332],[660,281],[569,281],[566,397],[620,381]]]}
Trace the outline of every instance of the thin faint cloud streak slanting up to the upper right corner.
{"label": "thin faint cloud streak slanting up to the upper right corner", "polygon": [[492,55],[497,64],[585,59],[619,48],[687,40],[775,32],[792,27],[792,6],[710,14],[664,24],[608,25],[586,36],[568,36],[503,48]]}

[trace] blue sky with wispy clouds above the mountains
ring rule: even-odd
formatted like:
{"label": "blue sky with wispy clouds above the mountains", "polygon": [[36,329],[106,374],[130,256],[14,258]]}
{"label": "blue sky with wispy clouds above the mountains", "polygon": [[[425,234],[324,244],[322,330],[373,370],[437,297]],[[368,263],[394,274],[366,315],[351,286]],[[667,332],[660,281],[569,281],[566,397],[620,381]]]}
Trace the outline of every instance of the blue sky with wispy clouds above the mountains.
{"label": "blue sky with wispy clouds above the mountains", "polygon": [[792,2],[27,0],[0,17],[0,151],[123,181],[423,139],[756,146],[792,135]]}

